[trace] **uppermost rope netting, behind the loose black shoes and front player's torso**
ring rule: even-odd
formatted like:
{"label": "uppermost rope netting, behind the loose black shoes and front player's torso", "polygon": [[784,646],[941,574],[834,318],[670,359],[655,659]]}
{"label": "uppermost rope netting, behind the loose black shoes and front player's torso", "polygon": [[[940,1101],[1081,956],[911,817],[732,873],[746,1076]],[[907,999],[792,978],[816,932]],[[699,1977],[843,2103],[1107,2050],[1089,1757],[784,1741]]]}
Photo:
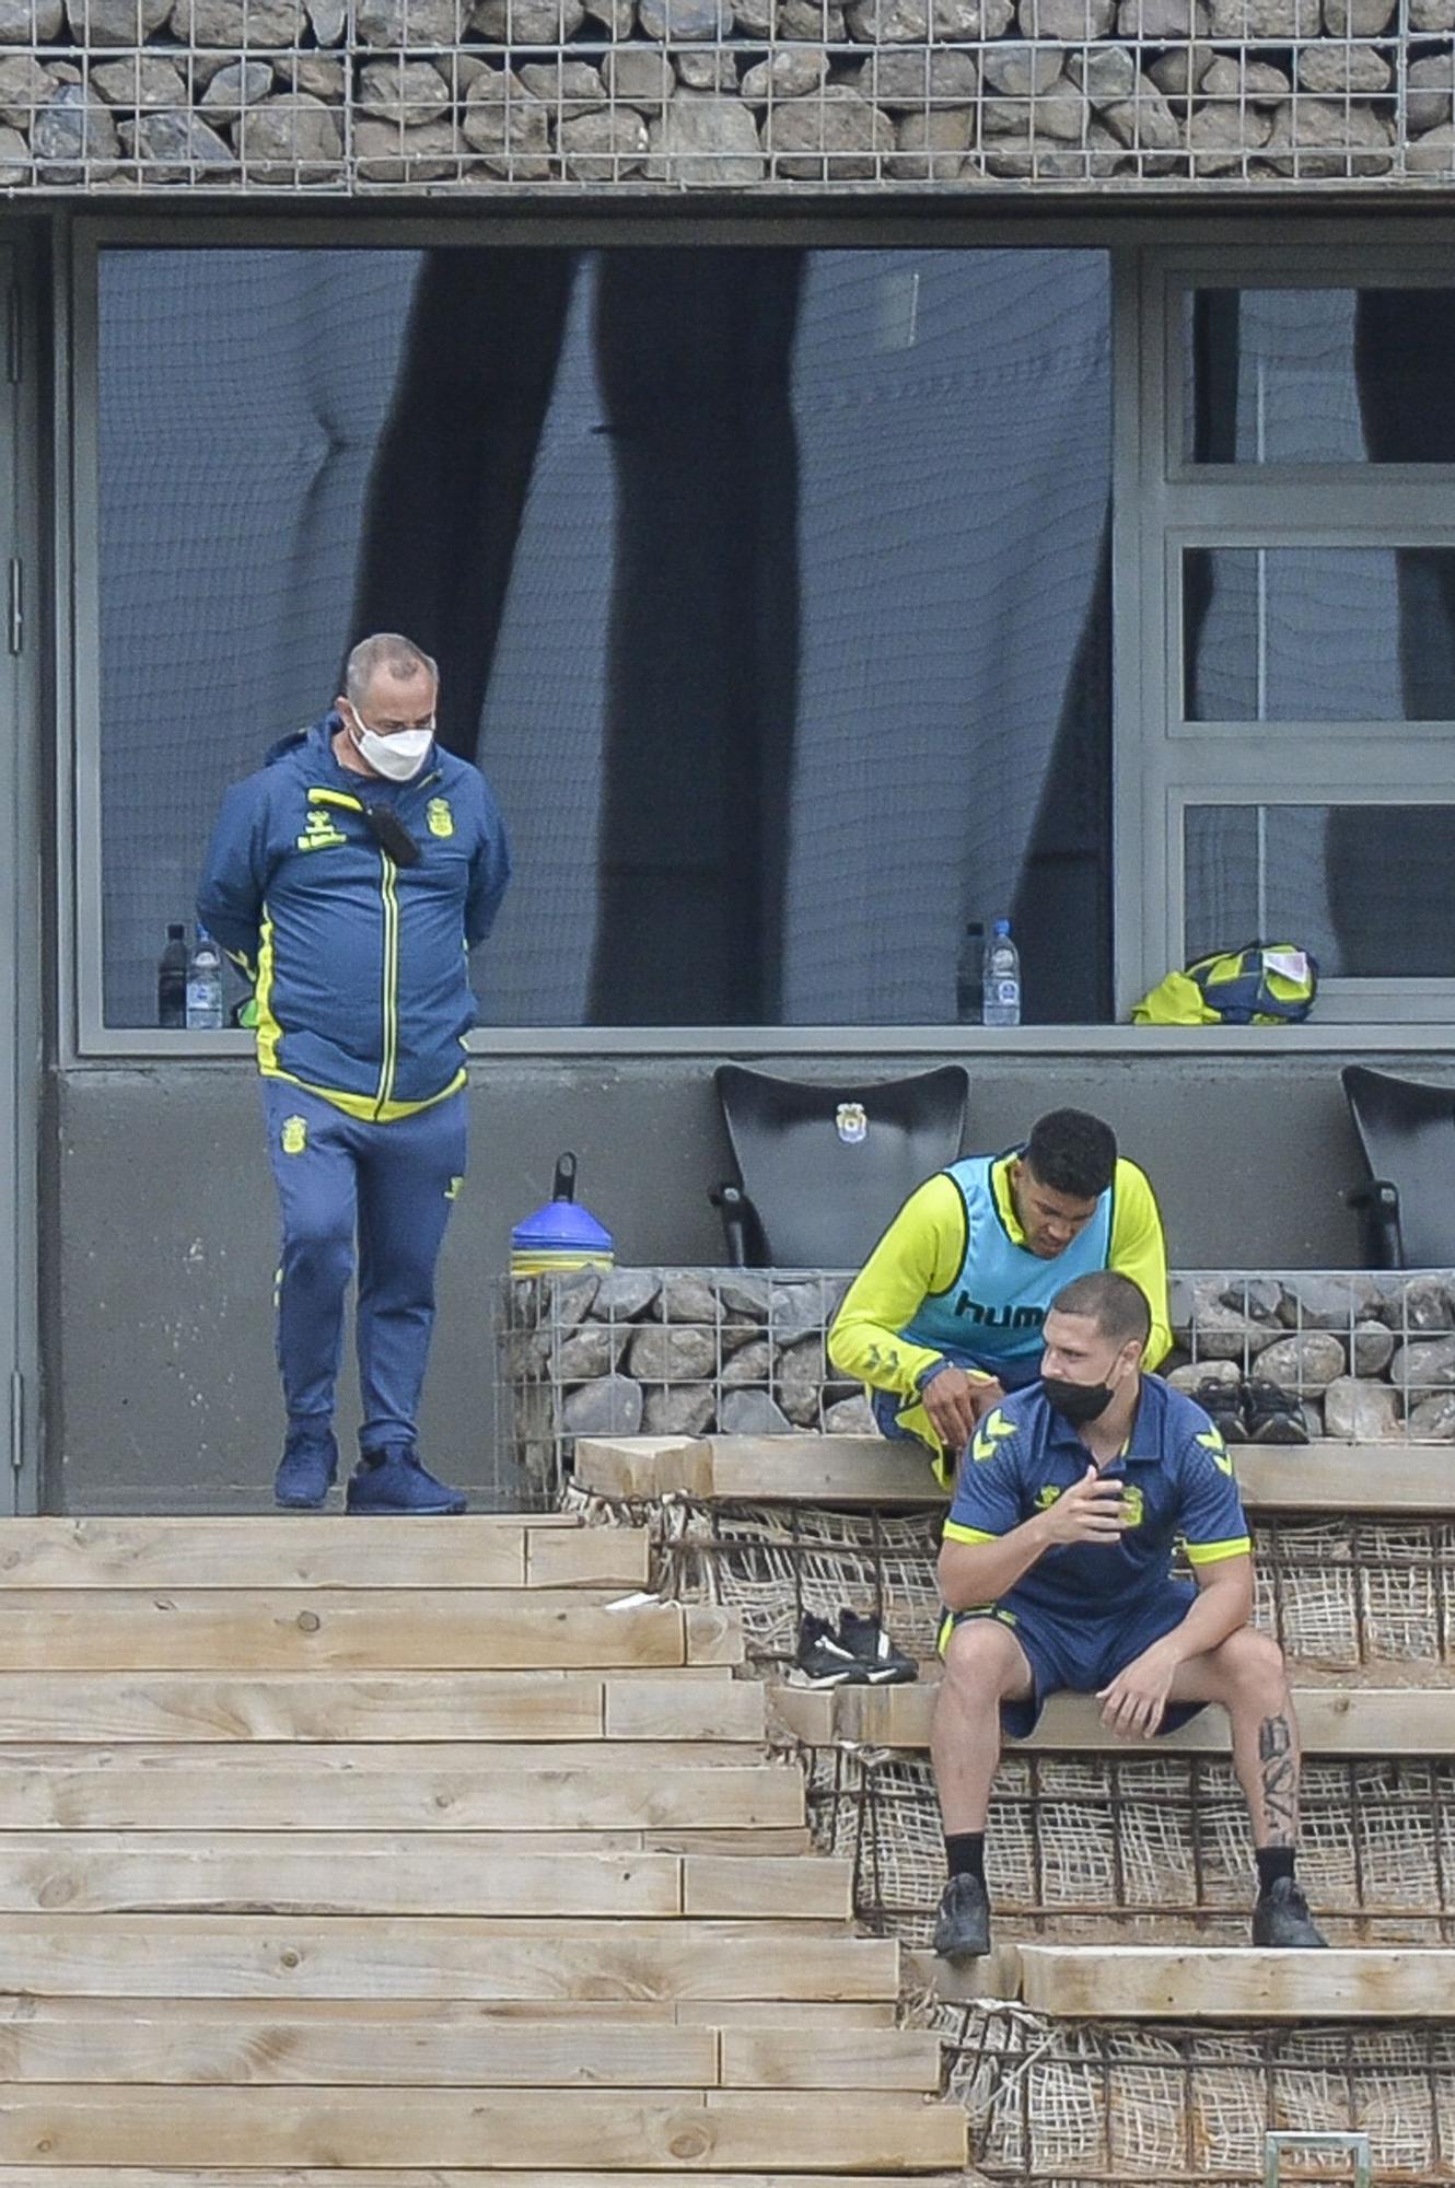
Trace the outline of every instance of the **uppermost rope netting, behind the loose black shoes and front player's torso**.
{"label": "uppermost rope netting, behind the loose black shoes and front player's torso", "polygon": [[[645,1525],[656,1584],[680,1602],[737,1610],[753,1661],[788,1663],[803,1613],[836,1617],[840,1606],[873,1610],[910,1654],[934,1654],[941,1508],[608,1503],[575,1488],[564,1501],[589,1518]],[[1280,1521],[1254,1529],[1254,1551],[1258,1623],[1300,1667],[1378,1665],[1392,1685],[1431,1685],[1455,1669],[1455,1525]],[[1394,1665],[1409,1669],[1387,1672]]]}

